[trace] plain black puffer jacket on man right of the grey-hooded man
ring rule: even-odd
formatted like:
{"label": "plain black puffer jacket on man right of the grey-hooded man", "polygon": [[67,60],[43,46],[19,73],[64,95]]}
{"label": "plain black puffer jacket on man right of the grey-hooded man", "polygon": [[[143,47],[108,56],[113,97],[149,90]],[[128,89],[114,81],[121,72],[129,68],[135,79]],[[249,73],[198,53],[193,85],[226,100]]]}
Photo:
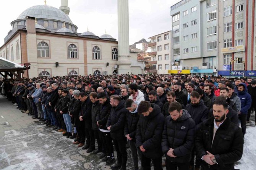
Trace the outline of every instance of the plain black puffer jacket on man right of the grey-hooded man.
{"label": "plain black puffer jacket on man right of the grey-hooded man", "polygon": [[153,111],[148,116],[139,116],[136,129],[136,146],[143,146],[142,152],[150,159],[162,157],[161,136],[164,128],[164,115],[157,104],[151,104]]}

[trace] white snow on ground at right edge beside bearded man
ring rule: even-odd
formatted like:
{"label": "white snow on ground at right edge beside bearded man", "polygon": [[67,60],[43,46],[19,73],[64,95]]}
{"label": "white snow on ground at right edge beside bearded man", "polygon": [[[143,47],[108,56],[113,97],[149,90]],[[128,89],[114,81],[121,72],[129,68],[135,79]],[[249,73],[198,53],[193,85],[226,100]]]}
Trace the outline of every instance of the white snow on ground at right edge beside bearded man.
{"label": "white snow on ground at right edge beside bearded man", "polygon": [[243,156],[235,165],[235,169],[255,170],[256,169],[256,127],[247,127],[245,144],[243,145]]}

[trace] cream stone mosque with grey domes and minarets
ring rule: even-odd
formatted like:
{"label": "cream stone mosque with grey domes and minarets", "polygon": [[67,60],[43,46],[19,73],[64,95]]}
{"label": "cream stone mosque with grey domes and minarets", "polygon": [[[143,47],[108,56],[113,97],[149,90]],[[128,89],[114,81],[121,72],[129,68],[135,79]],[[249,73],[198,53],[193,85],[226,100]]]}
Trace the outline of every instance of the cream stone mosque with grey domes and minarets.
{"label": "cream stone mosque with grey domes and minarets", "polygon": [[0,56],[30,67],[23,77],[143,74],[144,63],[129,51],[129,29],[123,24],[128,22],[128,0],[118,0],[119,42],[106,32],[101,36],[88,29],[78,33],[69,13],[68,0],[61,0],[59,9],[45,1],[24,10],[11,22]]}

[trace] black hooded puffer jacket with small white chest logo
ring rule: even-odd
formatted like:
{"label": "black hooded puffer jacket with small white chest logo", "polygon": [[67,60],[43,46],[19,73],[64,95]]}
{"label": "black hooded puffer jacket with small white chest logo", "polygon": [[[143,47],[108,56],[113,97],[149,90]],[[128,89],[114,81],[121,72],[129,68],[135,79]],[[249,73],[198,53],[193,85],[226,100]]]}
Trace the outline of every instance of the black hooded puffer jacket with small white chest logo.
{"label": "black hooded puffer jacket with small white chest logo", "polygon": [[[196,124],[188,111],[183,113],[176,121],[171,115],[165,118],[164,131],[162,133],[162,151],[171,162],[189,162],[191,151],[194,147],[196,137]],[[173,154],[177,157],[169,157],[167,152],[172,148]]]}

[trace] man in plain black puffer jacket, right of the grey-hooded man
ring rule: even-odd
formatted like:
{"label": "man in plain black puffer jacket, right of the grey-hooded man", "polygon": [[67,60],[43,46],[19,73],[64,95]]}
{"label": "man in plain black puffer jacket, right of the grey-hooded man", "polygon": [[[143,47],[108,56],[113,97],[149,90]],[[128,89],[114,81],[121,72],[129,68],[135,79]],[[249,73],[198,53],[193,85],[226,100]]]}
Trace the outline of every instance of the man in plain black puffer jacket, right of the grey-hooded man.
{"label": "man in plain black puffer jacket, right of the grey-hooded man", "polygon": [[161,136],[164,128],[164,115],[157,104],[141,101],[138,106],[139,121],[136,130],[136,146],[142,151],[143,170],[162,170]]}

